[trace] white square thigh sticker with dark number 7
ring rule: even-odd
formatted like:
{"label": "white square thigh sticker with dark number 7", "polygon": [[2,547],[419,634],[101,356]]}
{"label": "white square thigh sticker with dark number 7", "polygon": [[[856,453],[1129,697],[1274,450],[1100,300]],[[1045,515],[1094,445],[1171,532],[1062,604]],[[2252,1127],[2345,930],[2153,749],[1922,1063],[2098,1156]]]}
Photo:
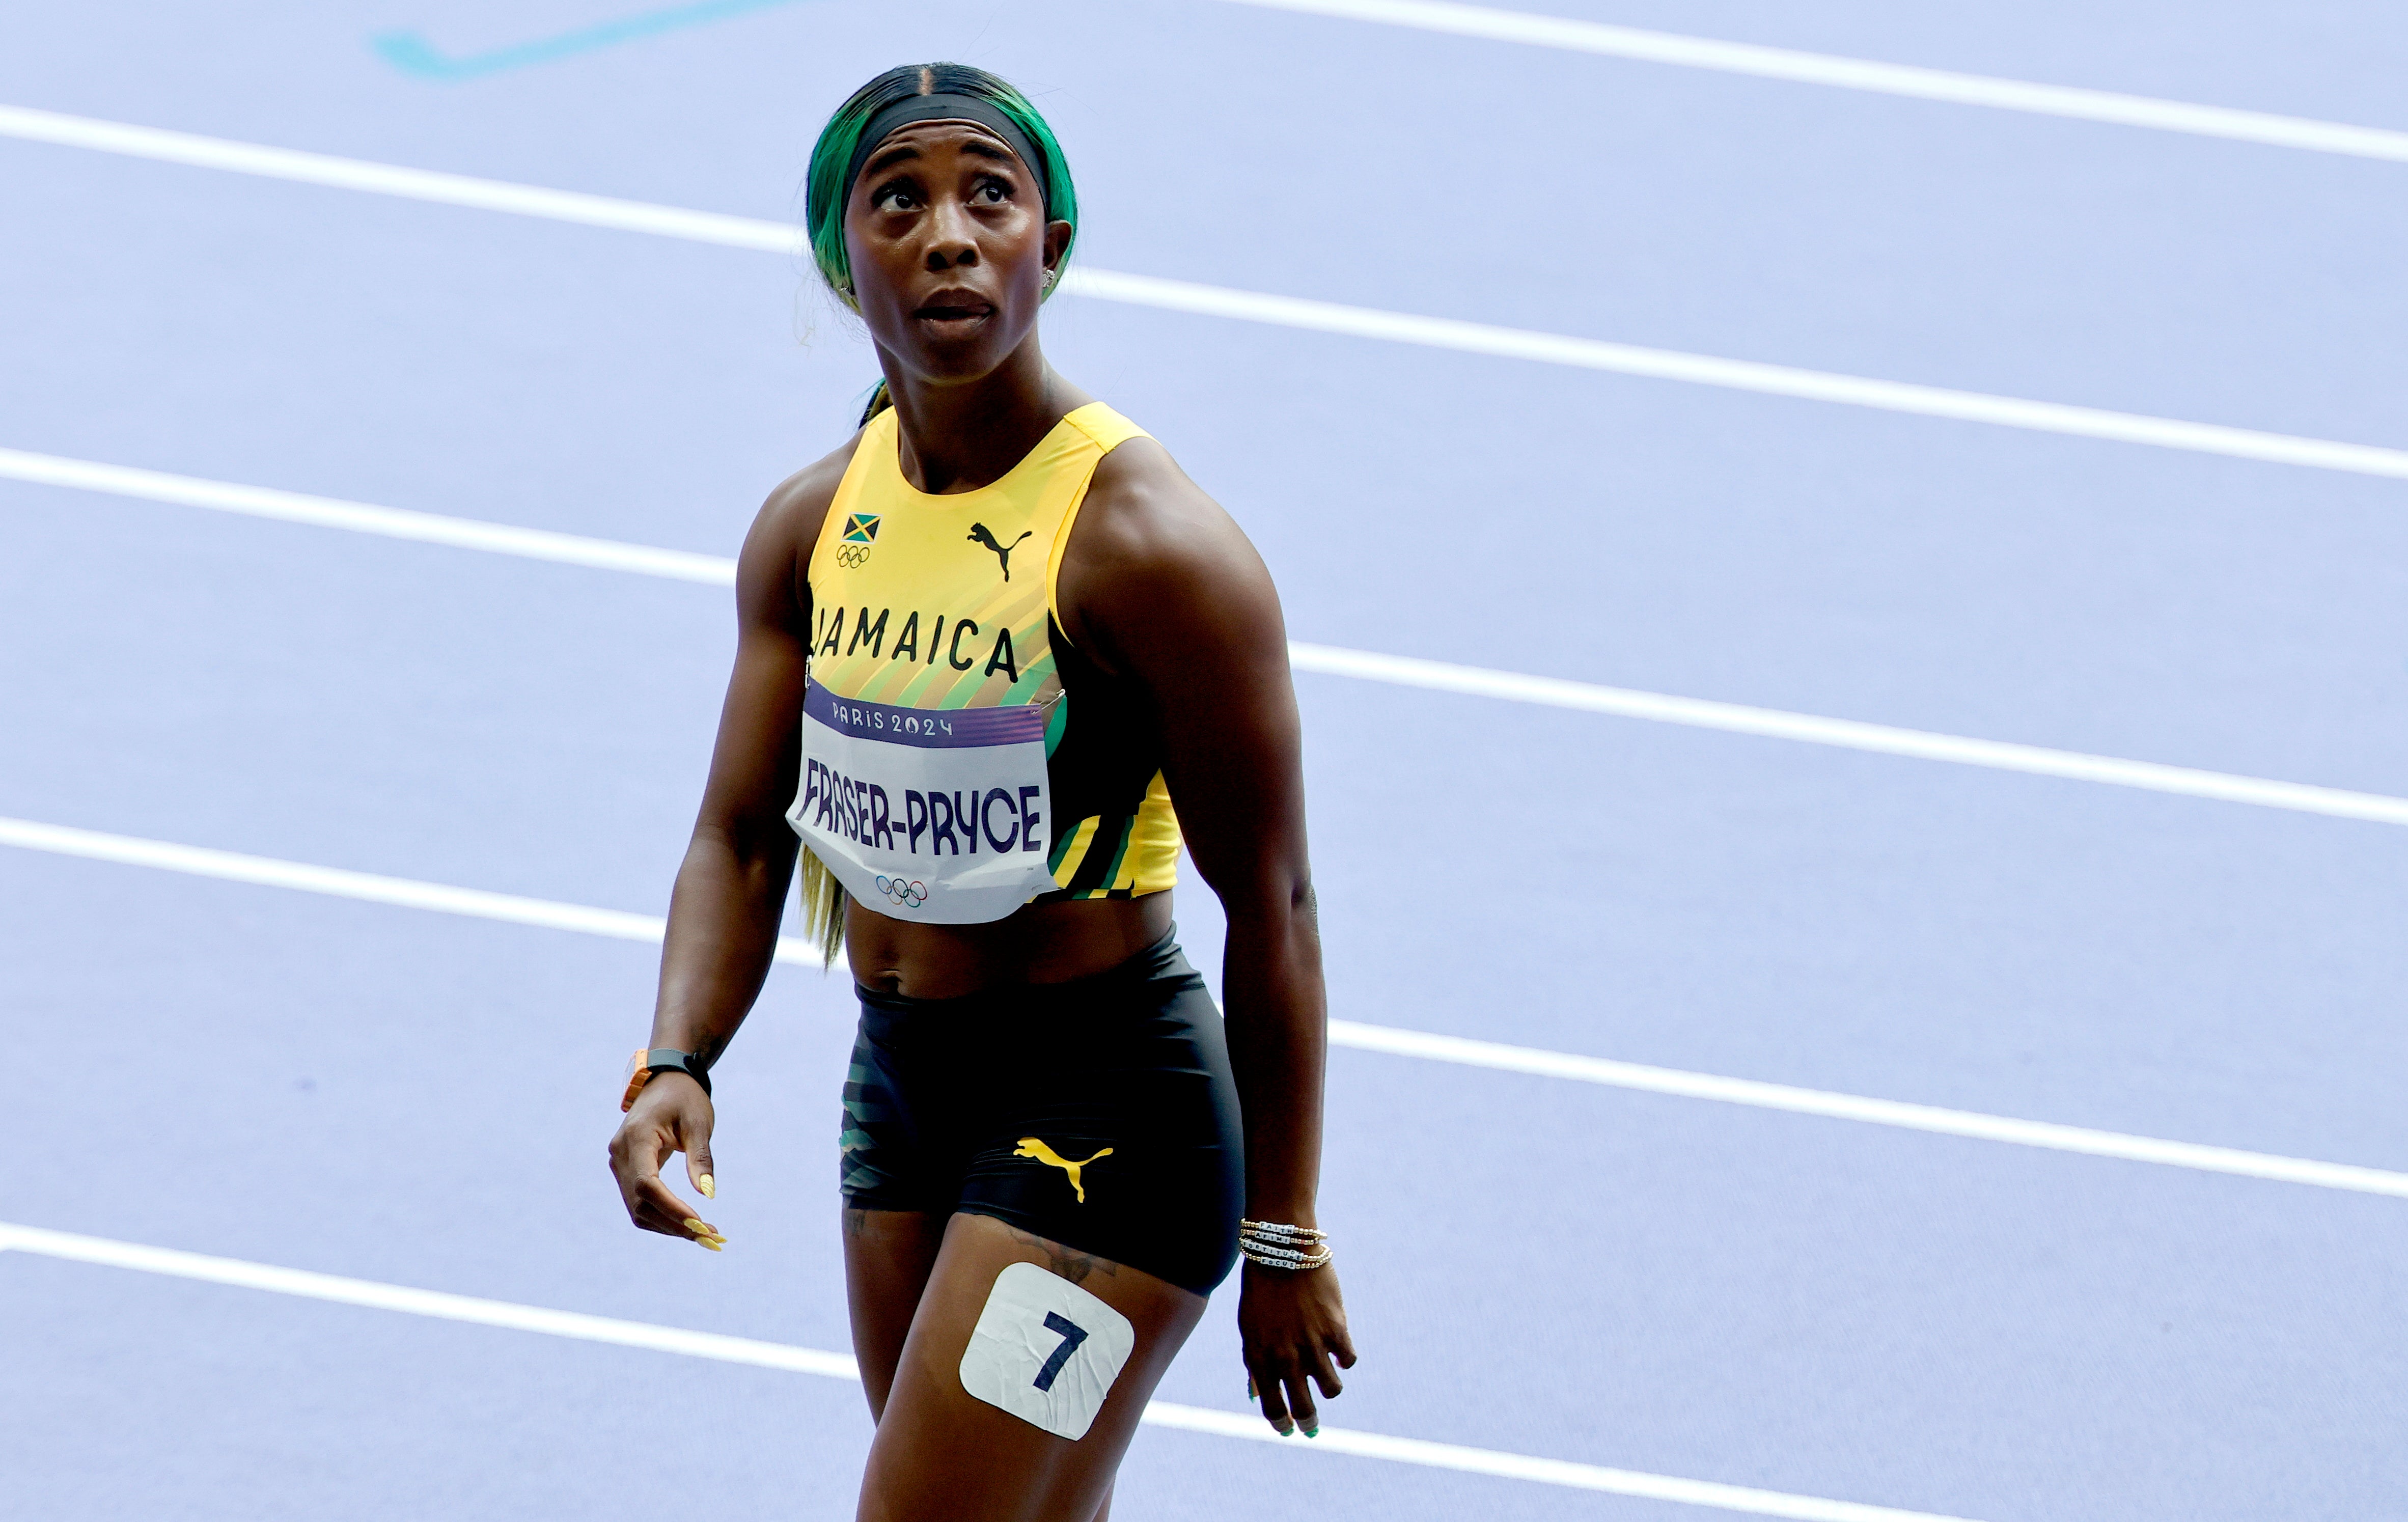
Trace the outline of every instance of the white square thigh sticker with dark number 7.
{"label": "white square thigh sticker with dark number 7", "polygon": [[1057,1438],[1086,1438],[1137,1329],[1033,1262],[1004,1264],[961,1353],[961,1387]]}

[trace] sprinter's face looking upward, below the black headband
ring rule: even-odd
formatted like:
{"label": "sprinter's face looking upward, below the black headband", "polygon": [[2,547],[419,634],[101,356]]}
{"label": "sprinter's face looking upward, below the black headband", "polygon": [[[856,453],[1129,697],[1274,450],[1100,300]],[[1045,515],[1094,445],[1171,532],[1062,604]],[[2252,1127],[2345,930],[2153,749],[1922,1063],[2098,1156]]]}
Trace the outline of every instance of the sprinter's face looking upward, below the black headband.
{"label": "sprinter's face looking upward, below the black headband", "polygon": [[973,380],[1035,328],[1069,231],[1045,222],[1043,188],[1002,137],[910,123],[869,154],[845,205],[852,299],[908,371]]}

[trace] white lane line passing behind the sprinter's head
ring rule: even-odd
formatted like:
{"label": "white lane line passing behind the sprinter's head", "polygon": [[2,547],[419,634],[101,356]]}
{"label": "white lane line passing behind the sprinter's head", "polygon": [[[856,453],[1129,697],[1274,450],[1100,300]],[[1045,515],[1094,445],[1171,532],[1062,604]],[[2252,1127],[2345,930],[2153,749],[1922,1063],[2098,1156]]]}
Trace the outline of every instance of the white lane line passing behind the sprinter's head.
{"label": "white lane line passing behind the sprinter's head", "polygon": [[[306,154],[279,147],[260,147],[253,142],[231,142],[224,137],[200,137],[193,132],[132,128],[125,123],[63,116],[55,111],[31,111],[24,106],[0,106],[0,137],[24,137],[31,142],[161,159],[197,169],[258,173],[342,190],[402,195],[489,212],[551,217],[559,222],[612,226],[698,243],[799,253],[799,234],[783,222],[720,217],[713,212],[689,212],[681,207],[616,200],[609,195],[544,190],[539,185],[513,185],[508,181],[400,169],[393,164]],[[1642,376],[1652,380],[1681,380],[1688,385],[1832,402],[1842,407],[1871,407],[1876,412],[1905,412],[1914,417],[1941,417],[2001,429],[2102,438],[2112,443],[2141,443],[2201,455],[2227,455],[2235,460],[2408,479],[2408,450],[2367,443],[2268,433],[2261,429],[2230,429],[2223,424],[2194,424],[2138,412],[2071,407],[2064,402],[2030,402],[2023,397],[1950,390],[1943,385],[1873,380],[1866,376],[1840,376],[1832,371],[1806,371],[1782,364],[1755,364],[1748,359],[1719,359],[1712,354],[1686,354],[1678,349],[1647,349],[1640,344],[1616,344],[1606,340],[1570,337],[1563,332],[1539,332],[1531,328],[1423,318],[1370,306],[1346,306],[1339,301],[1271,296],[1267,291],[1240,291],[1233,287],[1211,287],[1187,279],[1127,275],[1120,270],[1074,267],[1062,289],[1096,301],[1120,301],[1129,306],[1230,318],[1240,323],[1269,323],[1274,328],[1452,349],[1459,354],[1486,354],[1493,359],[1529,359],[1539,364],[1611,371],[1618,376]]]}

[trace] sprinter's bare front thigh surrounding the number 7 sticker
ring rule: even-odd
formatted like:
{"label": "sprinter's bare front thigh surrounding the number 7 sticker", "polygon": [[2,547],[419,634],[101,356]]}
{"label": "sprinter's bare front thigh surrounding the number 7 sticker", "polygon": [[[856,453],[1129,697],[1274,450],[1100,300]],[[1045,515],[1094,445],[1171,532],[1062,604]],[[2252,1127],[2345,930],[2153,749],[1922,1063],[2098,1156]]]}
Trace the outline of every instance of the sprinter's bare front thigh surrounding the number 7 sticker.
{"label": "sprinter's bare front thigh surrounding the number 7 sticker", "polygon": [[[1035,1264],[1129,1320],[1137,1341],[1084,1438],[1060,1438],[963,1390],[970,1329],[1009,1264]],[[1204,1296],[1141,1269],[995,1216],[954,1216],[869,1447],[862,1522],[1088,1522],[1153,1385],[1202,1315]]]}

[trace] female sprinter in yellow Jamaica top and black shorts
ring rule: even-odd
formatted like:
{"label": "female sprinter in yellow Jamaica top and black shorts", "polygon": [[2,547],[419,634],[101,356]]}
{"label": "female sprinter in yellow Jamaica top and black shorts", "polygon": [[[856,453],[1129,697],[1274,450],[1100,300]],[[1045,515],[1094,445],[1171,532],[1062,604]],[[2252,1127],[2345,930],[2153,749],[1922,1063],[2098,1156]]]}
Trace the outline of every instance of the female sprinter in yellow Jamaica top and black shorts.
{"label": "female sprinter in yellow Jamaica top and black shorts", "polygon": [[[807,202],[886,380],[744,542],[612,1170],[636,1226],[718,1250],[660,1168],[684,1151],[715,1192],[706,1074],[799,833],[804,913],[862,1004],[838,1142],[877,1416],[860,1515],[1100,1520],[1240,1252],[1274,1428],[1315,1433],[1308,1382],[1332,1397],[1353,1363],[1312,1209],[1322,966],[1279,597],[1170,455],[1045,364],[1079,205],[1016,89],[879,75]],[[1182,831],[1228,913],[1226,1021],[1170,932]]]}

